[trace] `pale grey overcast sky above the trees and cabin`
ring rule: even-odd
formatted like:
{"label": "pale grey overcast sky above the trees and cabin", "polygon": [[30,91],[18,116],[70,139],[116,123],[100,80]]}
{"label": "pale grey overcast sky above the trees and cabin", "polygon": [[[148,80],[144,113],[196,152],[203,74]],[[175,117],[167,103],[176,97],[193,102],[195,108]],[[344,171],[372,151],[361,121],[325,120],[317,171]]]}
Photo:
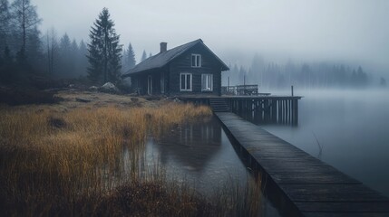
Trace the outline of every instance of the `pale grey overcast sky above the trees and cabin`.
{"label": "pale grey overcast sky above the trees and cabin", "polygon": [[141,52],[159,52],[201,38],[210,49],[250,55],[366,61],[389,69],[388,0],[31,0],[54,27],[88,41],[92,23],[107,7],[121,35]]}

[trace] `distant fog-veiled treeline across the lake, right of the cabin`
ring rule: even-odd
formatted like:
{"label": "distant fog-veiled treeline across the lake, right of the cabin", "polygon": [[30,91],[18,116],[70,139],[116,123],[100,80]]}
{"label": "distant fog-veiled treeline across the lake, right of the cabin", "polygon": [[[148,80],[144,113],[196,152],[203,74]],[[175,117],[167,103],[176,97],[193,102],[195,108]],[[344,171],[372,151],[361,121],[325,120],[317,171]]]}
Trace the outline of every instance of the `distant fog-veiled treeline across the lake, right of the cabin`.
{"label": "distant fog-veiled treeline across the lake, right of the cabin", "polygon": [[229,66],[230,71],[223,73],[223,85],[258,84],[262,90],[289,88],[291,85],[301,89],[327,88],[365,88],[386,86],[386,80],[374,80],[373,76],[361,66],[339,63],[295,63],[287,61],[280,64],[266,62],[256,54],[251,66],[246,68],[237,64]]}

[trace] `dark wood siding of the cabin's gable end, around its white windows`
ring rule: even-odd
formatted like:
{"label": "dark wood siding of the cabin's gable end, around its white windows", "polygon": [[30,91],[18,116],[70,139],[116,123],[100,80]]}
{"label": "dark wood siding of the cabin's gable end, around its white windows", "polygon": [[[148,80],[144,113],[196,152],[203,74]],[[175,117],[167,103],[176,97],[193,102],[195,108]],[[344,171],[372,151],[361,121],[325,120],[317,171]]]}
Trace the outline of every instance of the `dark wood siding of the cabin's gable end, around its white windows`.
{"label": "dark wood siding of the cabin's gable end, around its white windows", "polygon": [[[201,67],[191,67],[191,54],[201,55]],[[192,74],[192,90],[180,91],[180,73]],[[213,75],[213,90],[201,90],[201,74]],[[170,94],[201,94],[220,95],[221,65],[220,62],[204,46],[197,44],[180,57],[170,62]]]}

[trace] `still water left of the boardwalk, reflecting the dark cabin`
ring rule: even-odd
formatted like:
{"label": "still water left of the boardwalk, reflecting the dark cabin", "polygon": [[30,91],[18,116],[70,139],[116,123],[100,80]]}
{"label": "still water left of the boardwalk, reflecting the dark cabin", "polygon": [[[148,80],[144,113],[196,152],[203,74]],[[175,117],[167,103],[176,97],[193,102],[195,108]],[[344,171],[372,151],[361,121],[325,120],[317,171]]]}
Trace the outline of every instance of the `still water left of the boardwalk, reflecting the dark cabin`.
{"label": "still water left of the boardwalk, reflecting the dark cabin", "polygon": [[[146,157],[163,165],[168,178],[187,182],[203,194],[224,186],[230,178],[240,184],[252,178],[216,118],[174,128],[160,141],[150,138]],[[261,212],[261,216],[279,216],[264,196]]]}

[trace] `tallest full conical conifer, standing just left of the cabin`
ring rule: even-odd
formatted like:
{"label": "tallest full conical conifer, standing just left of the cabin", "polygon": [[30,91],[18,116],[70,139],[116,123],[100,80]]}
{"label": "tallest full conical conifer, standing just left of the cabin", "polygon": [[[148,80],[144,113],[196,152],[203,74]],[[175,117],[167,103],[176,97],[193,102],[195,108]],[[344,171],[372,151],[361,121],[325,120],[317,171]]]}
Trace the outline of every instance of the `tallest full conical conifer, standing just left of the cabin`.
{"label": "tallest full conical conifer, standing just left of the cabin", "polygon": [[122,44],[113,28],[107,8],[103,8],[90,31],[91,42],[88,43],[88,78],[93,82],[117,83],[121,75]]}

